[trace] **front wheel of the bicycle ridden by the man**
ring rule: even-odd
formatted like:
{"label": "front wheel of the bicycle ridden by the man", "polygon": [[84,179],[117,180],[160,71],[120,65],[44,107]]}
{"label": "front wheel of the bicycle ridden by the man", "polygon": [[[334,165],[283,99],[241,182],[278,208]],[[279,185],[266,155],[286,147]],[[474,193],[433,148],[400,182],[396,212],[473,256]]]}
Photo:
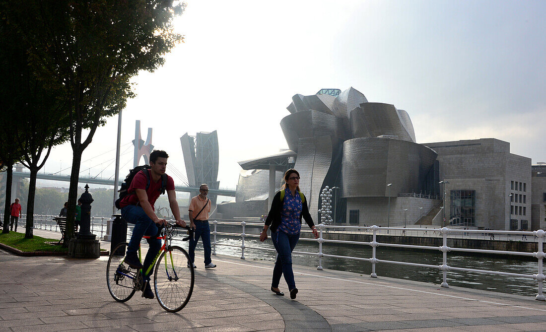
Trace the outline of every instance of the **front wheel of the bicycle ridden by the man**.
{"label": "front wheel of the bicycle ridden by the man", "polygon": [[170,312],[180,311],[192,296],[193,281],[188,253],[177,246],[167,248],[157,260],[153,277],[159,305]]}

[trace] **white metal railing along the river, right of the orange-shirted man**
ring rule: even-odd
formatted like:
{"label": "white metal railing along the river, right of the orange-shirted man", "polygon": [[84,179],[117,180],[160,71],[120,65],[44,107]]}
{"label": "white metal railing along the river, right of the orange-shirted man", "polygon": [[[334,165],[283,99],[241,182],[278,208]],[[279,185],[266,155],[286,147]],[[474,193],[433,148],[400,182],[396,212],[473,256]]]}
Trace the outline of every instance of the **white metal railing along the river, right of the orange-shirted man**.
{"label": "white metal railing along the river, right of the orange-shirted man", "polygon": [[[257,219],[257,218],[256,218]],[[241,249],[241,259],[245,259],[245,249],[246,248],[252,248],[257,250],[269,250],[269,251],[275,251],[273,248],[267,248],[267,247],[248,247],[245,245],[245,239],[246,238],[259,238],[259,235],[256,234],[246,234],[245,230],[247,227],[252,228],[262,228],[263,223],[260,222],[247,222],[247,221],[230,221],[230,222],[219,222],[219,221],[213,221],[212,222],[214,226],[214,230],[211,232],[213,235],[213,241],[211,242],[212,245],[212,254],[216,254],[216,246],[228,246],[228,247],[238,247]],[[229,233],[229,232],[218,232],[218,226],[241,226],[241,233]],[[449,271],[463,271],[463,272],[476,272],[480,274],[490,274],[490,275],[501,275],[501,276],[511,276],[511,277],[523,277],[523,278],[530,278],[532,280],[536,280],[538,283],[538,294],[536,295],[535,299],[544,301],[546,298],[543,294],[543,282],[546,280],[544,277],[544,270],[543,270],[543,259],[546,258],[546,254],[544,254],[544,238],[546,237],[546,232],[544,230],[539,229],[535,230],[533,232],[527,232],[527,231],[511,231],[511,230],[480,230],[480,229],[450,229],[447,227],[443,228],[401,228],[401,227],[379,227],[379,226],[328,226],[325,224],[319,224],[317,226],[319,229],[319,238],[318,239],[308,239],[308,238],[300,238],[300,241],[316,241],[318,242],[318,252],[304,252],[304,251],[294,251],[294,253],[298,254],[306,254],[310,256],[316,256],[318,258],[318,266],[317,270],[322,270],[322,259],[323,258],[341,258],[341,259],[353,259],[353,260],[360,260],[363,262],[369,262],[371,263],[372,272],[370,277],[377,277],[376,274],[376,264],[378,263],[384,263],[384,264],[396,264],[396,265],[407,265],[407,266],[416,266],[419,268],[430,268],[430,269],[437,269],[442,272],[442,283],[441,287],[449,287],[447,283],[447,272]],[[336,228],[343,228],[344,230],[367,230],[372,232],[372,241],[371,242],[364,242],[364,241],[346,241],[346,240],[329,240],[324,239],[323,233],[327,229],[336,229]],[[437,232],[438,235],[442,236],[443,243],[440,247],[435,246],[419,246],[419,245],[406,245],[406,244],[393,244],[393,243],[383,243],[383,242],[377,242],[377,233],[378,232],[384,232],[386,230],[395,230],[395,231],[403,231],[403,232]],[[488,234],[506,234],[508,236],[510,235],[519,235],[519,236],[535,236],[537,239],[538,244],[538,250],[537,252],[519,252],[519,251],[503,251],[503,250],[483,250],[483,249],[473,249],[473,248],[461,248],[461,247],[449,247],[447,245],[447,239],[449,234],[483,234],[484,232]],[[426,234],[426,233],[425,233]],[[220,244],[216,241],[217,235],[225,235],[225,236],[240,236],[241,238],[241,245],[232,245],[232,244]],[[339,256],[339,255],[332,255],[332,254],[325,254],[322,251],[322,246],[325,243],[334,243],[334,244],[353,244],[353,245],[367,245],[372,248],[372,257],[370,258],[360,258],[360,257],[351,257],[351,256]],[[413,248],[413,249],[427,249],[427,250],[437,250],[442,253],[442,264],[441,265],[431,265],[431,264],[420,264],[420,263],[410,263],[410,262],[399,262],[396,260],[385,260],[385,259],[379,259],[377,257],[376,249],[377,247],[396,247],[396,248]],[[537,274],[521,274],[521,273],[512,273],[512,272],[503,272],[503,271],[492,271],[492,270],[480,270],[480,269],[467,269],[467,268],[461,268],[456,266],[450,266],[447,264],[447,255],[448,252],[473,252],[473,253],[487,253],[487,254],[502,254],[502,255],[509,255],[509,256],[525,256],[525,257],[531,257],[536,258],[538,262],[538,271]]]}

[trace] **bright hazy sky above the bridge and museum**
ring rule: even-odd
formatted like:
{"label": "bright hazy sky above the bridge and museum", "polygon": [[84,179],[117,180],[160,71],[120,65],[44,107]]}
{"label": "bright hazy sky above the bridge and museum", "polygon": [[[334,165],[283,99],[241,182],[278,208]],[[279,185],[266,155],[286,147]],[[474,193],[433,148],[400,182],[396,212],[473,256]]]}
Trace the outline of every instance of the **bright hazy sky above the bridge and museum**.
{"label": "bright hazy sky above the bridge and museum", "polygon": [[[238,161],[287,148],[279,123],[294,94],[351,86],[406,110],[417,143],[497,138],[546,162],[544,1],[187,4],[176,20],[185,43],[134,80],[122,119],[122,152],[141,120],[143,139],[153,128],[153,145],[171,156],[168,173],[185,173],[184,133],[217,130],[220,186],[234,188]],[[97,130],[82,175],[114,174],[116,131],[117,116]],[[127,151],[121,177],[132,167]],[[71,161],[69,143],[55,147],[45,171]]]}

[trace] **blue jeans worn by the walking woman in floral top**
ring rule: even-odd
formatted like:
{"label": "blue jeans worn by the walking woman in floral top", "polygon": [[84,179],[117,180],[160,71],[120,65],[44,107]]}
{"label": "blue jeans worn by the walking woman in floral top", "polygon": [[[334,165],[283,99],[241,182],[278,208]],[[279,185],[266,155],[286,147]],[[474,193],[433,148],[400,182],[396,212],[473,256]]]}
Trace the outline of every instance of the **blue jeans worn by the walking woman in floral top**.
{"label": "blue jeans worn by the walking woman in floral top", "polygon": [[277,260],[275,261],[275,268],[273,269],[273,280],[271,286],[278,287],[278,283],[281,281],[281,275],[284,274],[284,280],[288,284],[288,289],[296,288],[294,281],[294,272],[292,271],[292,251],[298,244],[300,239],[300,233],[294,235],[288,235],[282,230],[271,232],[271,240],[275,246],[275,250],[278,253]]}

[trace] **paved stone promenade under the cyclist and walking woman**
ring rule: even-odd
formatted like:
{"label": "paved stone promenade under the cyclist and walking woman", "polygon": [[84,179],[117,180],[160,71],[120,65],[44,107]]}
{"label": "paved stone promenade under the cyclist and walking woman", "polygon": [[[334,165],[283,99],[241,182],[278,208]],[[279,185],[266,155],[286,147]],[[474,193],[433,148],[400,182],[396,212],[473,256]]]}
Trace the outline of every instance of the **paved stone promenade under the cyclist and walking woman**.
{"label": "paved stone promenade under the cyclist and walking woman", "polygon": [[269,290],[271,262],[228,256],[198,264],[188,305],[168,313],[138,293],[114,301],[107,260],[0,251],[0,331],[546,331],[546,303],[533,297],[294,266],[290,300]]}

